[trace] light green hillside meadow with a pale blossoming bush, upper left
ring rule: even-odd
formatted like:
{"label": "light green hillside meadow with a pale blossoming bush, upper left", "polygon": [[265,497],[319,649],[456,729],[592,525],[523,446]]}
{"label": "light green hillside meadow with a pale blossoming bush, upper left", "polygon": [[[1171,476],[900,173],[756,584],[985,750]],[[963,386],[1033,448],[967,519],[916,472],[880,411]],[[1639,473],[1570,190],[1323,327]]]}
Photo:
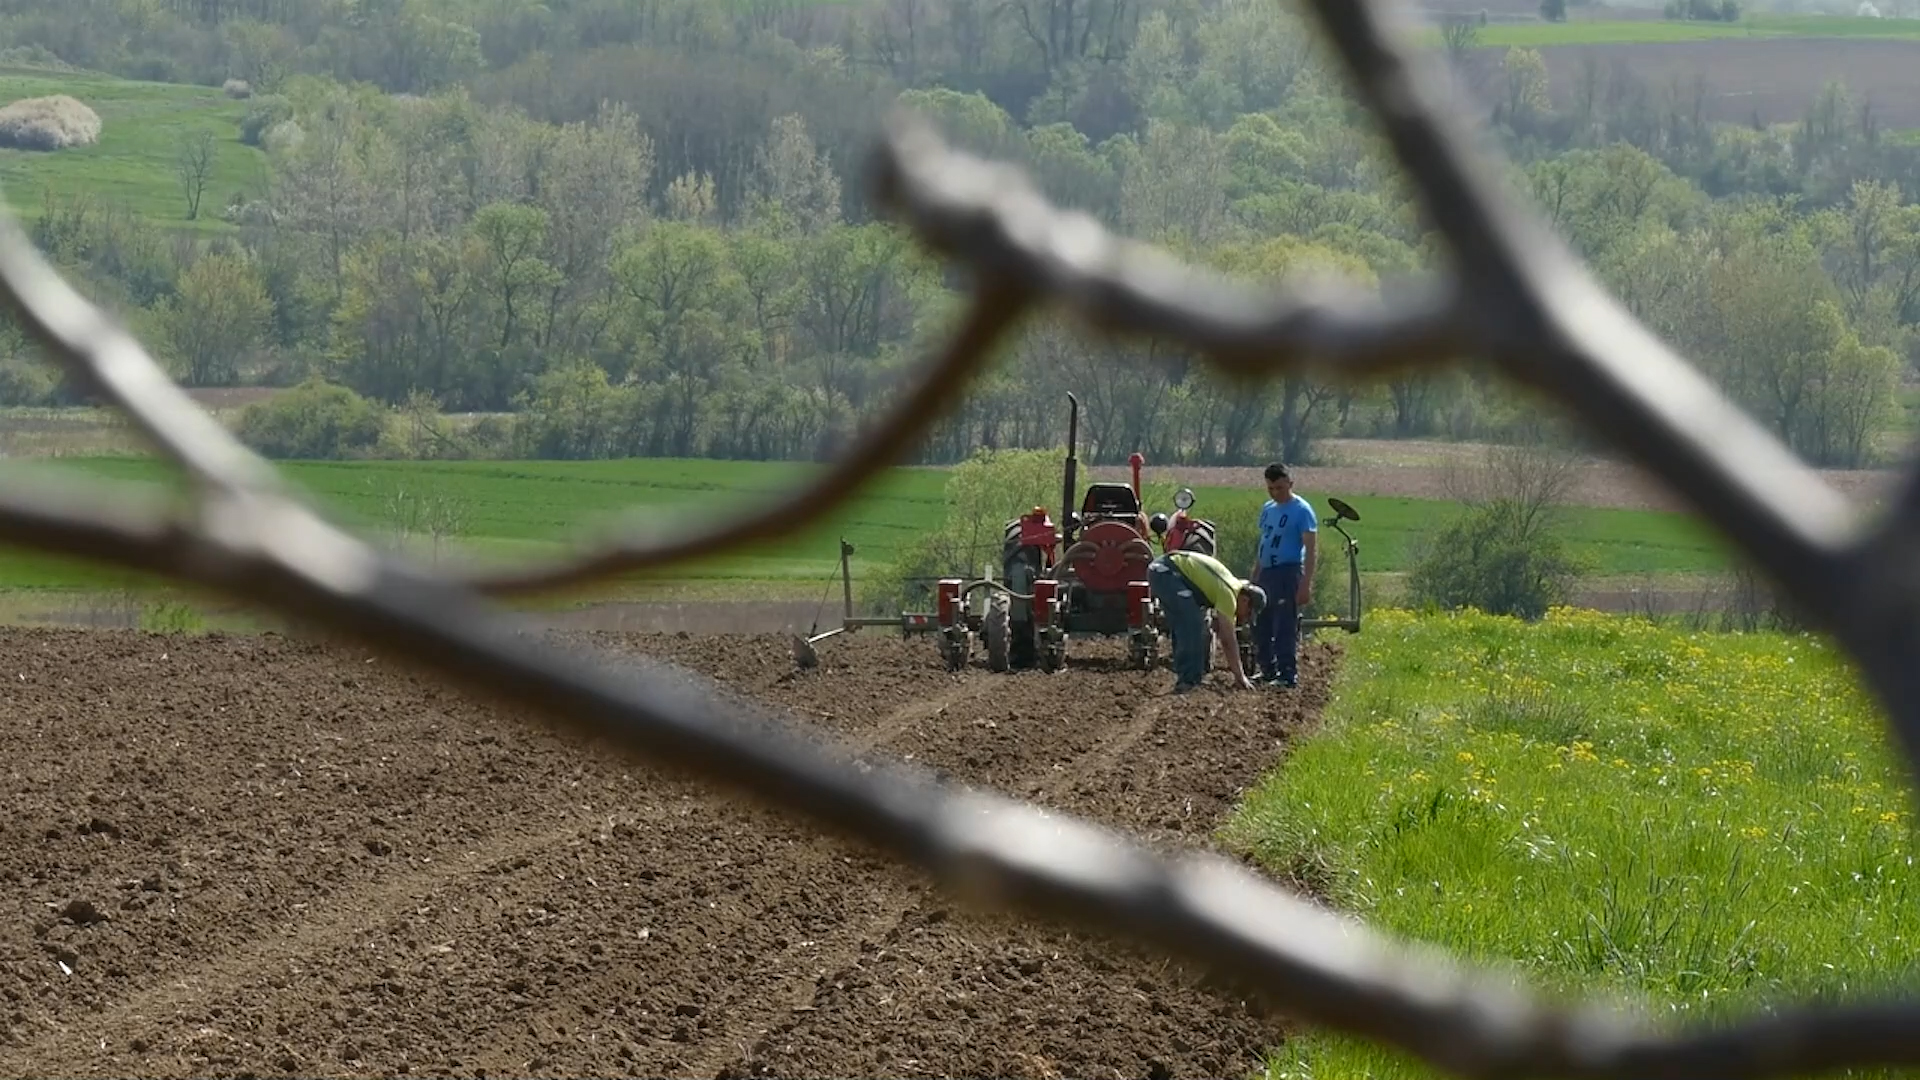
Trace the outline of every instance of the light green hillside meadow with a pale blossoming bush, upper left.
{"label": "light green hillside meadow with a pale blossoming bush, upper left", "polygon": [[[234,190],[257,194],[265,184],[265,156],[238,138],[246,102],[217,88],[0,69],[0,104],[46,94],[71,94],[98,111],[100,142],[50,154],[0,150],[0,192],[21,217],[38,217],[48,192],[56,202],[84,192],[157,225],[213,231],[227,229],[219,211]],[[219,142],[200,219],[188,221],[175,158],[196,131]]]}

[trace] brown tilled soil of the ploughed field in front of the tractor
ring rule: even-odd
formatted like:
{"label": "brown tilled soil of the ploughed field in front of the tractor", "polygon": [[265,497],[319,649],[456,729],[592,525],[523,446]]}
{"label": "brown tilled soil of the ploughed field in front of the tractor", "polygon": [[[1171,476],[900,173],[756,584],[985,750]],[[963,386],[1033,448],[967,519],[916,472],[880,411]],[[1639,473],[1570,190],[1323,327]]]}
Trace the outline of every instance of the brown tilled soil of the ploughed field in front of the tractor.
{"label": "brown tilled soil of the ploughed field in front of the tractor", "polygon": [[[1204,844],[1319,709],[1091,659],[595,636],[908,759]],[[1283,1022],[1135,949],[342,646],[0,632],[10,1076],[1238,1076]]]}

